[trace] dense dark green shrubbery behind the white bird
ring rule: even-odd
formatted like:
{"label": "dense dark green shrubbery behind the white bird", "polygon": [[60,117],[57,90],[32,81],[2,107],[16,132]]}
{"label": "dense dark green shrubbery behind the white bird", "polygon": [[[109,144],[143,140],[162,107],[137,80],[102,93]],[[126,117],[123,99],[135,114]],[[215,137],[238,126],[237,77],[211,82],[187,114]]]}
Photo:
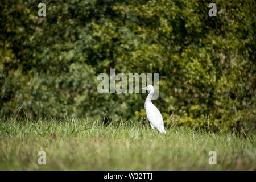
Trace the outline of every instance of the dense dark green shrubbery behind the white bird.
{"label": "dense dark green shrubbery behind the white bird", "polygon": [[159,73],[164,120],[255,127],[255,2],[1,1],[0,112],[138,119],[145,94],[99,94],[97,75]]}

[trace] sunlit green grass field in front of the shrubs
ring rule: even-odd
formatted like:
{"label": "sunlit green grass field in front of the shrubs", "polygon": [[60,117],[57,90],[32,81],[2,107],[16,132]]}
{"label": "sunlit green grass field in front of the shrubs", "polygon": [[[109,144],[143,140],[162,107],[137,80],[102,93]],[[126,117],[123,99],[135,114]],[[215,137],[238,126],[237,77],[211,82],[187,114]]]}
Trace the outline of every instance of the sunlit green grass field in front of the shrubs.
{"label": "sunlit green grass field in front of the shrubs", "polygon": [[[166,134],[131,121],[66,118],[0,120],[1,170],[255,170],[247,138],[173,126]],[[46,152],[46,165],[38,152]],[[210,165],[209,151],[217,164]]]}

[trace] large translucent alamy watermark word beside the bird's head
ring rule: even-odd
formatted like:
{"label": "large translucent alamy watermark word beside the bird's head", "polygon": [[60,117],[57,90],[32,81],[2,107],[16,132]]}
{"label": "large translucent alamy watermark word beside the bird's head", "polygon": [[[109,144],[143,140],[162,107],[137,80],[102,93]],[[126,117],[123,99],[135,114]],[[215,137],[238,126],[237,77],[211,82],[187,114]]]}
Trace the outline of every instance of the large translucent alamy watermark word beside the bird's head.
{"label": "large translucent alamy watermark word beside the bird's head", "polygon": [[[115,69],[110,69],[110,78],[106,73],[98,75],[97,80],[101,80],[101,82],[98,84],[97,90],[98,93],[146,93],[146,90],[142,90],[142,88],[152,85],[152,75],[152,73],[129,73],[127,79],[125,73],[115,75]],[[118,82],[115,83],[115,81]],[[153,100],[159,96],[159,73],[154,73],[154,88]]]}

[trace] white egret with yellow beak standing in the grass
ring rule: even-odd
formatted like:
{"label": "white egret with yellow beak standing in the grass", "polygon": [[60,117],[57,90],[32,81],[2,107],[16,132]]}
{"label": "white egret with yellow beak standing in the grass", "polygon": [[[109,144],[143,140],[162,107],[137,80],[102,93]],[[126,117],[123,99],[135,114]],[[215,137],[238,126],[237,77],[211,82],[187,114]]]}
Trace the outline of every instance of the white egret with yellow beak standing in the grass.
{"label": "white egret with yellow beak standing in the grass", "polygon": [[164,130],[163,117],[158,108],[151,102],[155,92],[154,86],[148,85],[142,89],[147,90],[148,92],[144,108],[146,109],[147,119],[150,122],[152,129],[155,130],[156,127],[161,133],[166,133],[166,130]]}

